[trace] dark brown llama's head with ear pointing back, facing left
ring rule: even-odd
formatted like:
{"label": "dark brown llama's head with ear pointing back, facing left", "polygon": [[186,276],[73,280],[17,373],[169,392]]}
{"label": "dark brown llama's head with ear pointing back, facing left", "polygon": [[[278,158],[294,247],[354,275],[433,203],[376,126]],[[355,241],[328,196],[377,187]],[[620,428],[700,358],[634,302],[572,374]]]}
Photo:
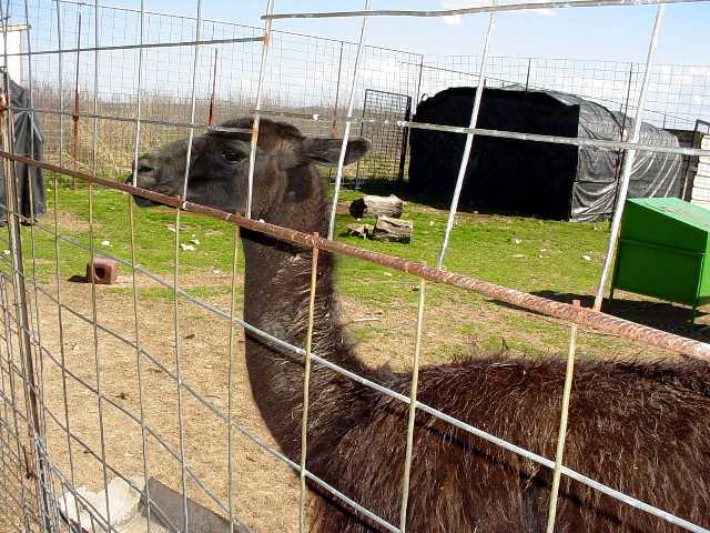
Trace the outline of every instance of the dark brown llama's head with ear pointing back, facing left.
{"label": "dark brown llama's head with ear pointing back, facing left", "polygon": [[[224,123],[223,128],[251,130],[252,118]],[[244,212],[248,190],[251,134],[248,131],[214,130],[195,137],[190,153],[187,195],[190,202],[230,212]],[[312,163],[336,165],[342,139],[306,137],[297,128],[272,120],[260,121],[258,144],[254,164],[252,212],[264,210],[283,200],[288,180],[306,179],[312,172],[292,172]],[[348,140],[345,164],[357,161],[369,150],[369,141],[359,137]],[[138,160],[136,184],[170,197],[182,197],[185,180],[187,141],[175,141],[145,153]],[[126,180],[126,183],[131,178]],[[304,183],[303,187],[308,187]],[[139,205],[155,203],[134,197]]]}

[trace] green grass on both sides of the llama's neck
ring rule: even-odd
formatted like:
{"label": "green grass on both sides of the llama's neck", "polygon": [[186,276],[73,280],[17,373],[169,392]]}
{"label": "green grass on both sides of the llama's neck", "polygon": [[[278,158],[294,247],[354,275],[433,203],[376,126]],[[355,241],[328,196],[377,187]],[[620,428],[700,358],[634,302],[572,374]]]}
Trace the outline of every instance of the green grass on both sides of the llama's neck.
{"label": "green grass on both sides of the llama's neck", "polygon": [[[357,193],[344,191],[343,200],[355,198]],[[42,224],[53,232],[53,190],[48,190],[48,214]],[[59,207],[79,221],[81,228],[64,224],[60,233],[89,245],[89,201],[88,190],[72,190],[61,187]],[[130,233],[128,197],[115,191],[94,189],[94,247],[122,260],[130,261]],[[410,244],[376,242],[345,237],[346,224],[353,222],[349,215],[338,215],[336,234],[338,240],[403,259],[426,261],[436,264],[446,213],[424,211],[420,205],[407,203],[403,218],[414,222]],[[159,274],[168,274],[173,269],[175,211],[168,208],[134,209],[135,254],[143,268]],[[481,280],[524,290],[550,290],[558,292],[591,293],[595,289],[608,233],[605,223],[567,223],[526,219],[518,217],[491,215],[486,218],[459,215],[452,232],[445,265],[448,270],[473,275]],[[30,242],[30,229],[23,228],[24,241]],[[206,217],[183,213],[181,215],[181,243],[197,239],[194,251],[181,251],[181,272],[195,269],[229,270],[232,262],[232,227]],[[516,243],[519,240],[519,243]],[[108,244],[102,244],[108,241]],[[52,234],[34,230],[36,254],[38,259],[54,260]],[[29,247],[29,244],[26,244]],[[544,250],[544,251],[542,251]],[[29,250],[28,250],[29,252]],[[83,271],[88,252],[61,243],[60,263],[62,275]],[[26,255],[29,255],[26,254]],[[586,261],[588,255],[591,261]],[[41,261],[38,272],[52,269]],[[383,299],[405,296],[398,289],[402,283],[412,285],[416,280],[407,274],[388,271],[382,266],[351,258],[338,258],[338,284],[342,293],[357,296],[363,283],[387,281],[390,285]],[[382,283],[381,283],[382,284]],[[412,293],[413,291],[407,291]],[[436,291],[435,291],[436,292]],[[406,296],[409,298],[409,296]],[[414,296],[412,296],[414,298]]]}

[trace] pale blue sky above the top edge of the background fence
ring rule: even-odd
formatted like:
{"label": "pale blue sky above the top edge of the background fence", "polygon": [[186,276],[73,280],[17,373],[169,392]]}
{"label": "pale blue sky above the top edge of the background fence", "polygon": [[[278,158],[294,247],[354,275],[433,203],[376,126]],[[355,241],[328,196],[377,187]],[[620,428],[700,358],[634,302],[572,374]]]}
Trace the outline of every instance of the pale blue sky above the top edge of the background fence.
{"label": "pale blue sky above the top edge of the background fence", "polygon": [[[103,2],[102,2],[103,3]],[[138,1],[105,3],[138,7]],[[225,2],[203,0],[203,14],[231,22],[261,24],[265,0]],[[375,9],[443,9],[475,6],[475,0],[373,0]],[[194,0],[145,0],[146,9],[194,14]],[[276,11],[328,11],[361,9],[364,1],[276,0]],[[642,61],[648,47],[656,7],[558,9],[498,16],[491,53],[545,58]],[[487,16],[457,20],[371,19],[367,42],[382,47],[435,54],[480,53]],[[275,29],[323,37],[356,39],[358,20],[278,20]],[[665,63],[710,64],[710,2],[666,8],[658,59]]]}

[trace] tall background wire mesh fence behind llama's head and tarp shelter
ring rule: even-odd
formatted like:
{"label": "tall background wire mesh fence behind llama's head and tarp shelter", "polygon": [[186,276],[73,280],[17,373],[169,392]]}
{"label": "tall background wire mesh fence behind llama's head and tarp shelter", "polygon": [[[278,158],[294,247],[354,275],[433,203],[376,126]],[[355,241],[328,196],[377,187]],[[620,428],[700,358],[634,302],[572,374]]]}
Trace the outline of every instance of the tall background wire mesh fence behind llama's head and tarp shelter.
{"label": "tall background wire mesh fence behind llama's head and tarp shelter", "polygon": [[[41,110],[38,115],[47,137],[45,157],[59,161],[63,150],[65,158],[77,159],[77,164],[83,164],[84,169],[91,151],[83,133],[91,130],[92,120],[93,9],[92,4],[69,1],[29,3],[29,23],[33,28],[29,47],[33,54],[36,108]],[[108,76],[99,79],[102,117],[99,128],[103,133],[99,162],[121,173],[128,170],[124,155],[132,151],[129,121],[135,109],[140,13],[125,8],[98,9],[99,33],[108,43],[104,48],[109,48],[101,53],[102,63],[106,71],[121,72],[120,79]],[[17,0],[10,2],[9,11],[23,21],[20,16],[23,7]],[[191,54],[184,52],[194,40],[195,30],[194,18],[156,12],[144,16],[142,150],[176,139],[181,132],[171,131],[170,125],[189,122],[192,62]],[[197,70],[204,76],[199,77],[195,87],[199,123],[209,123],[211,108],[214,123],[251,109],[258,82],[260,32],[244,24],[201,21],[204,43]],[[306,132],[329,134],[338,128],[342,131],[344,121],[337,117],[346,114],[343,95],[352,83],[357,44],[281,31],[274,31],[272,37],[263,87],[268,108],[335,119],[335,127],[328,121],[292,119]],[[240,42],[243,40],[248,42]],[[59,50],[65,52],[59,54]],[[9,59],[21,59],[27,76],[28,58],[22,54]],[[479,67],[480,58],[475,56],[438,57],[365,46],[355,91],[355,114],[365,112],[366,90],[409,95],[416,108],[423,97],[448,87],[476,86]],[[633,115],[642,73],[641,63],[491,57],[486,86],[569,92]],[[710,117],[709,98],[708,67],[658,66],[649,88],[645,120],[662,128],[692,130],[697,119]],[[399,179],[394,170],[386,177]]]}

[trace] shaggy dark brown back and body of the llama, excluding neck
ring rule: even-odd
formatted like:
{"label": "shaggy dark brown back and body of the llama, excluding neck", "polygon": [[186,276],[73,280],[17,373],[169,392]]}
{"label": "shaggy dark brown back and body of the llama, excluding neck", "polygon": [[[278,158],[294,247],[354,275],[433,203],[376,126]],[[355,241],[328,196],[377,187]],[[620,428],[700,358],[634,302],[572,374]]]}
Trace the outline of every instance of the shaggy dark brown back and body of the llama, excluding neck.
{"label": "shaggy dark brown back and body of the llama, excluding neck", "polygon": [[[418,400],[554,457],[564,375],[560,360],[485,356],[422,369]],[[707,365],[687,362],[578,363],[565,465],[710,526],[709,378]],[[393,386],[408,394],[409,378]],[[407,406],[376,395],[368,420],[344,435],[322,467],[338,490],[396,525]],[[417,414],[408,531],[544,532],[550,484],[548,469]],[[336,502],[315,505],[316,531],[379,531]],[[682,531],[566,476],[556,523],[568,532]]]}

